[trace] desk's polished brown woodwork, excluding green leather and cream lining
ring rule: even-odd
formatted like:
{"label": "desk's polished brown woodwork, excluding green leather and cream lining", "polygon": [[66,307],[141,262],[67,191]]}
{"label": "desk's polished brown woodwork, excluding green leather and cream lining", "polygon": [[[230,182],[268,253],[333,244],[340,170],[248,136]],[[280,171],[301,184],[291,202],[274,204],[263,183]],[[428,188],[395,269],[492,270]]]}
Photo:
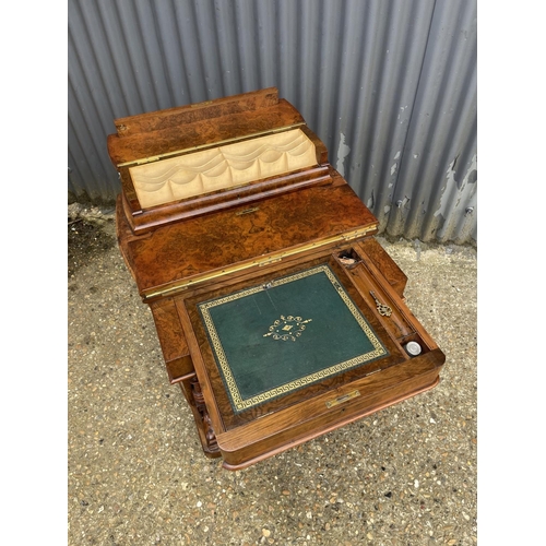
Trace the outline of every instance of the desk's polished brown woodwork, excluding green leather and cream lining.
{"label": "desk's polished brown woodwork, excluding green leather and cream lining", "polygon": [[[372,238],[377,218],[276,88],[119,118],[115,124],[107,144],[122,187],[119,247],[151,307],[169,381],[188,401],[206,456],[223,456],[228,470],[244,468],[438,383],[446,356],[405,306],[407,277]],[[141,206],[129,165],[294,127],[314,144],[316,166]],[[197,302],[327,262],[389,355],[234,412]],[[388,316],[378,312],[375,298],[391,308]],[[418,342],[422,354],[406,353],[407,341]]]}

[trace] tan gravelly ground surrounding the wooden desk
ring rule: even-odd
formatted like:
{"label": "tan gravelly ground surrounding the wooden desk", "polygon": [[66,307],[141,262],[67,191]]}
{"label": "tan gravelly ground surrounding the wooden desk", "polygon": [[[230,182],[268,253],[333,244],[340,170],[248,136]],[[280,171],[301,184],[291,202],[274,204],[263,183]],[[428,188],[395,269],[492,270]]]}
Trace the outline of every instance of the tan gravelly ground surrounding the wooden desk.
{"label": "tan gravelly ground surrounding the wooden desk", "polygon": [[68,544],[477,544],[476,250],[379,242],[447,355],[440,384],[238,472],[168,383],[114,211],[69,206]]}

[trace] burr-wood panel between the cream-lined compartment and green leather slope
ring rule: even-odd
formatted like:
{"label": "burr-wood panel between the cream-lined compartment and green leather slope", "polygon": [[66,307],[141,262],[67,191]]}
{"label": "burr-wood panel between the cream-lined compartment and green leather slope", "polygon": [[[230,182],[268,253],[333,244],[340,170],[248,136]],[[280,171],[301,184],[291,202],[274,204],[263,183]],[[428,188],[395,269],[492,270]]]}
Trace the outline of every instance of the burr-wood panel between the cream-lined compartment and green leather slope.
{"label": "burr-wood panel between the cream-lined compartment and green leather slope", "polygon": [[195,283],[259,268],[375,233],[378,221],[343,178],[132,236],[118,207],[120,246],[141,295],[173,294]]}

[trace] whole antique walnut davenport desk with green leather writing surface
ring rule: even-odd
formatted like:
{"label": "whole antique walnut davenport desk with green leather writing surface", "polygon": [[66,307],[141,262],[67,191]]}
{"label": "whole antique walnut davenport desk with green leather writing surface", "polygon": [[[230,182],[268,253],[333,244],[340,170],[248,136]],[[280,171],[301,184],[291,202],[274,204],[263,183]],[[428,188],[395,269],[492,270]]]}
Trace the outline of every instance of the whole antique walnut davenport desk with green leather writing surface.
{"label": "whole antique walnut davenport desk with green leather writing surface", "polygon": [[119,247],[206,455],[242,468],[438,383],[377,218],[276,88],[115,124]]}

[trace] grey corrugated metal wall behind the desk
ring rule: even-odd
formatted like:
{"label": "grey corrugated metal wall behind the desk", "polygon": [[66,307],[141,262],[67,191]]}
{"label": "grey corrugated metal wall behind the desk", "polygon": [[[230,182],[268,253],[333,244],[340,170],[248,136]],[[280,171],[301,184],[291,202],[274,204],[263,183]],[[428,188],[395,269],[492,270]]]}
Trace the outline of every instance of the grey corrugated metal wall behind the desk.
{"label": "grey corrugated metal wall behind the desk", "polygon": [[115,118],[278,87],[393,236],[475,242],[476,0],[69,0],[69,194]]}

